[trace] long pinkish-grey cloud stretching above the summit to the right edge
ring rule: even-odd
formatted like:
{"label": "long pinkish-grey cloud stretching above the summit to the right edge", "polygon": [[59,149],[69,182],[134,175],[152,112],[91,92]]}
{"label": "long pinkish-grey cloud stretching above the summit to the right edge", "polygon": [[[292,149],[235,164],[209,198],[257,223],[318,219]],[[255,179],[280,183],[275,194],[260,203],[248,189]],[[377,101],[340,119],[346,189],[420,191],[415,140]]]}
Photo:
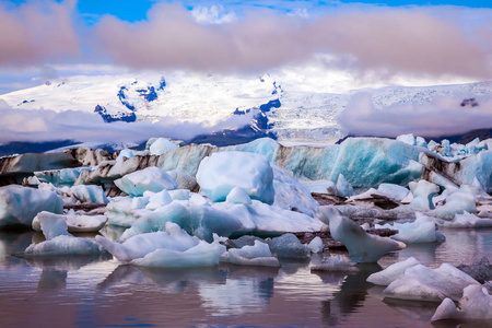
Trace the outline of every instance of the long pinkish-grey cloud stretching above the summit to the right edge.
{"label": "long pinkish-grey cloud stretching above the summit to the right edge", "polygon": [[[465,9],[464,9],[465,10]],[[470,35],[456,10],[352,7],[314,17],[246,11],[237,21],[203,25],[179,4],[159,3],[148,21],[104,16],[95,26],[101,48],[133,68],[263,70],[327,52],[339,65],[395,72],[492,78],[487,33]],[[484,9],[483,15],[492,11]],[[459,16],[459,15],[458,15]],[[476,30],[490,31],[492,20]]]}

